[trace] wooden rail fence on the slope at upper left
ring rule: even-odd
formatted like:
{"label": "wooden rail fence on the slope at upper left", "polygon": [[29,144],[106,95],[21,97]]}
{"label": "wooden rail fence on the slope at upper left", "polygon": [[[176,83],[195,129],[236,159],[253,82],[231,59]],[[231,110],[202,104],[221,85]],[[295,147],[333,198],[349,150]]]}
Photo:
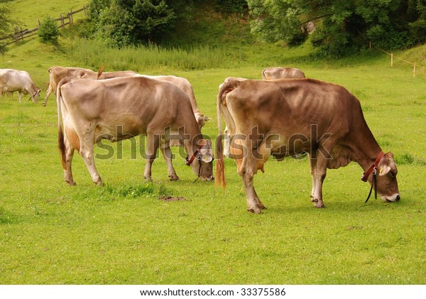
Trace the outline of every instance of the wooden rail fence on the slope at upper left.
{"label": "wooden rail fence on the slope at upper left", "polygon": [[[58,28],[65,28],[67,25],[71,25],[74,23],[73,16],[75,13],[80,13],[84,11],[84,15],[87,16],[87,6],[84,6],[82,9],[77,11],[71,11],[66,13],[65,16],[60,14],[59,18],[55,18],[55,22],[59,22]],[[38,26],[40,26],[40,20],[38,20]],[[22,29],[21,27],[15,27],[15,32],[10,34],[9,36],[0,37],[0,43],[4,43],[4,45],[10,45],[11,43],[18,43],[19,41],[24,40],[24,38],[30,38],[31,36],[36,36],[38,33],[38,28],[34,28],[31,30]],[[2,40],[6,40],[6,42],[2,42]]]}

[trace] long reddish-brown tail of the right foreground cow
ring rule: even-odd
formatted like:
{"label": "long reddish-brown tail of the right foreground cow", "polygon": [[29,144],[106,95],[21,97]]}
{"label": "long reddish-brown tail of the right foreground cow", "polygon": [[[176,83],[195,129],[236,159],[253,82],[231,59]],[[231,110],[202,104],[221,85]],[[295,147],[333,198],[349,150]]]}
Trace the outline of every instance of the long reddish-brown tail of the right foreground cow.
{"label": "long reddish-brown tail of the right foreground cow", "polygon": [[217,128],[218,128],[218,136],[216,141],[216,185],[222,185],[222,187],[226,187],[225,180],[225,165],[224,165],[224,154],[223,154],[223,146],[222,146],[222,117],[221,111],[222,106],[226,106],[226,94],[234,90],[241,84],[241,81],[230,80],[220,86],[219,94],[217,94]]}

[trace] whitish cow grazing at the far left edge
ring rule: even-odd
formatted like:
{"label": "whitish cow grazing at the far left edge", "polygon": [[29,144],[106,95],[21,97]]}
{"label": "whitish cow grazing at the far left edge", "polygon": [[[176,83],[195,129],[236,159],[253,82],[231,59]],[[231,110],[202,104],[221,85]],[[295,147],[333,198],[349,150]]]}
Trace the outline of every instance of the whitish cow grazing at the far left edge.
{"label": "whitish cow grazing at the far left edge", "polygon": [[19,102],[22,94],[31,94],[34,103],[38,102],[41,89],[35,86],[28,72],[25,70],[0,69],[1,95],[18,92]]}

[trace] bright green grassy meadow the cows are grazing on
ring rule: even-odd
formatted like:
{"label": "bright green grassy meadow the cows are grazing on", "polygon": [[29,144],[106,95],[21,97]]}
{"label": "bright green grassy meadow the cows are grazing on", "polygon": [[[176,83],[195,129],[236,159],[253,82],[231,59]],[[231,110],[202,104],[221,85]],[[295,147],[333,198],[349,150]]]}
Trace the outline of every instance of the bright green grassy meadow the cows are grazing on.
{"label": "bright green grassy meadow the cows are grazing on", "polygon": [[[215,139],[216,95],[225,77],[260,79],[263,67],[299,67],[359,98],[383,151],[395,154],[401,200],[364,203],[370,186],[351,163],[327,172],[327,208],[316,209],[307,159],[288,158],[269,161],[266,173],[255,176],[267,210],[251,214],[234,161],[225,161],[226,190],[193,183],[180,156],[174,161],[179,181],[168,180],[160,156],[153,183],[145,183],[145,162],[132,157],[131,141],[114,143],[114,157],[95,161],[104,187],[92,184],[76,154],[77,186],[71,187],[56,144],[55,99],[43,107],[19,104],[15,94],[0,98],[1,284],[426,283],[424,69],[413,78],[410,65],[391,67],[388,55],[374,50],[333,61],[312,58],[309,47],[261,44],[128,53],[97,48],[77,38],[62,38],[59,46],[28,40],[11,46],[0,68],[27,70],[43,88],[40,99],[53,65],[186,77],[200,110],[212,117],[203,134]],[[144,139],[136,141],[143,148]]]}

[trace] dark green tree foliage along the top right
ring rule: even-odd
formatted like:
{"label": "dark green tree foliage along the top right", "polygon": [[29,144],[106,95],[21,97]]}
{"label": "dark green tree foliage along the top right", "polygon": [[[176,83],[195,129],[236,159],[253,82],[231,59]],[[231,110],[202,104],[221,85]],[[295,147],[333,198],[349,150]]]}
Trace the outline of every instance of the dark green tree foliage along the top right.
{"label": "dark green tree foliage along the top right", "polygon": [[[289,45],[308,36],[322,53],[339,57],[366,48],[405,48],[425,38],[425,0],[249,0],[251,30],[258,38]],[[410,23],[411,22],[411,23]],[[305,36],[305,38],[303,38]]]}

